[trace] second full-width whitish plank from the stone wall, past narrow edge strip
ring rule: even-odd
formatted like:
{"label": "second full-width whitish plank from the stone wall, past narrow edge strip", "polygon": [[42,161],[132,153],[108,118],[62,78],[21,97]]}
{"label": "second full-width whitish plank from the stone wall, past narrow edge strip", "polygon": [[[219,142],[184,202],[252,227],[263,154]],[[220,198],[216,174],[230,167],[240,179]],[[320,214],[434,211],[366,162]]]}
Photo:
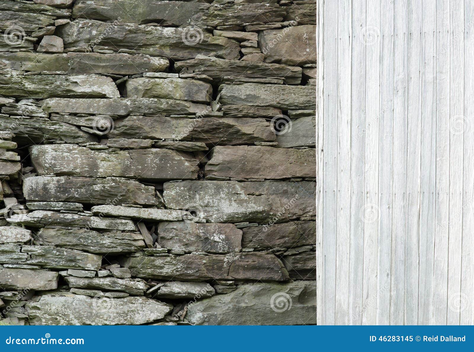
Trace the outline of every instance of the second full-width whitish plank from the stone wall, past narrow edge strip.
{"label": "second full-width whitish plank from the stone wall, past narrow edge strip", "polygon": [[338,4],[336,324],[348,324],[351,167],[351,1]]}

